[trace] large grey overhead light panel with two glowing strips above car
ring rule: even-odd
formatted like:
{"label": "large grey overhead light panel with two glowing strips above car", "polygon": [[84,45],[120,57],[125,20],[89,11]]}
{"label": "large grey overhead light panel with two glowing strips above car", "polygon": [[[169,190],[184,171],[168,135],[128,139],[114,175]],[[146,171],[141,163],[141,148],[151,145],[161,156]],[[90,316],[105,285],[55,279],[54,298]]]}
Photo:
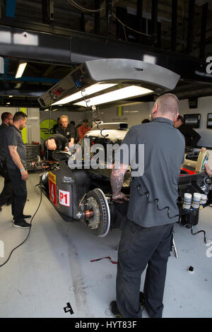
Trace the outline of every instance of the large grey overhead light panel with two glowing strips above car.
{"label": "large grey overhead light panel with two glowing strips above car", "polygon": [[[73,69],[41,95],[38,101],[42,107],[68,102],[87,106],[83,100],[88,99],[91,100],[90,105],[100,105],[147,93],[160,94],[173,90],[178,81],[177,73],[146,61],[97,59],[86,61]],[[124,88],[117,88],[115,85],[118,84]],[[114,89],[110,88],[113,86]],[[110,90],[104,91],[107,88]],[[82,90],[85,90],[83,94]],[[102,91],[103,96],[100,96],[99,91]]]}

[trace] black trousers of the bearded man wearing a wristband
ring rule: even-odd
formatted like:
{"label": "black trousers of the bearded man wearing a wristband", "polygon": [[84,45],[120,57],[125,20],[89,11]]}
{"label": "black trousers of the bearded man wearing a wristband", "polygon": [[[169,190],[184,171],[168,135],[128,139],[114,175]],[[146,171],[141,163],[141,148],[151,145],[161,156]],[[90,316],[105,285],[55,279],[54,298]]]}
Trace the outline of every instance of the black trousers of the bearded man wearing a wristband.
{"label": "black trousers of the bearded man wearing a wristband", "polygon": [[8,168],[13,187],[12,214],[16,223],[23,221],[23,209],[27,200],[26,181],[21,179],[20,170]]}

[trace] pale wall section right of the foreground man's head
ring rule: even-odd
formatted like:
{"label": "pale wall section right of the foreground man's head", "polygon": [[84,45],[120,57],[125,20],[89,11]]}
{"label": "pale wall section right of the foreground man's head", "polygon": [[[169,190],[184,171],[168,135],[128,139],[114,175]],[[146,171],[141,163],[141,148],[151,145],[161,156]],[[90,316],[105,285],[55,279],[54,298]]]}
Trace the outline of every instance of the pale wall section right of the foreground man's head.
{"label": "pale wall section right of the foreground man's head", "polygon": [[198,107],[194,109],[189,108],[189,100],[180,100],[179,114],[201,114],[200,127],[196,130],[201,139],[198,142],[199,146],[206,146],[212,148],[212,129],[207,129],[207,114],[212,113],[212,97],[200,97],[198,99]]}

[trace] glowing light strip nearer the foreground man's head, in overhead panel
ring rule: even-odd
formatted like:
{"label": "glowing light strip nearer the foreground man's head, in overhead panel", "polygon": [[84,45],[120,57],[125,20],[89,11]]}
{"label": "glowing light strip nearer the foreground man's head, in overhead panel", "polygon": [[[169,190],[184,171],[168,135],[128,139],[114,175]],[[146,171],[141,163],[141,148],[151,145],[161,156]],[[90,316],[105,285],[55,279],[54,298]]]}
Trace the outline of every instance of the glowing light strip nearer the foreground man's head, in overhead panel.
{"label": "glowing light strip nearer the foreground man's head, in overhead panel", "polygon": [[[114,100],[126,99],[129,97],[136,97],[138,95],[146,95],[146,93],[153,93],[153,90],[146,88],[141,88],[140,86],[131,85],[126,88],[114,90],[110,93],[104,93],[103,95],[98,95],[97,97],[90,98],[88,106],[105,104],[106,102],[113,102]],[[79,105],[87,107],[86,102],[76,102],[74,105]]]}

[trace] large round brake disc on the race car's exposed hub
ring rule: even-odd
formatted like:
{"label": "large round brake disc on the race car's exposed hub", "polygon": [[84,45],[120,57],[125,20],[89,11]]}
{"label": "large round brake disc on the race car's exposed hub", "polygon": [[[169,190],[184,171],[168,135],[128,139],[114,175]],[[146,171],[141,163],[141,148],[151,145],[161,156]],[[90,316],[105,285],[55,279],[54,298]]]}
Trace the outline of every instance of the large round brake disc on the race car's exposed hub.
{"label": "large round brake disc on the race car's exposed hub", "polygon": [[110,230],[110,208],[105,194],[99,188],[93,189],[86,195],[86,201],[94,211],[93,220],[90,220],[93,235],[105,237]]}

